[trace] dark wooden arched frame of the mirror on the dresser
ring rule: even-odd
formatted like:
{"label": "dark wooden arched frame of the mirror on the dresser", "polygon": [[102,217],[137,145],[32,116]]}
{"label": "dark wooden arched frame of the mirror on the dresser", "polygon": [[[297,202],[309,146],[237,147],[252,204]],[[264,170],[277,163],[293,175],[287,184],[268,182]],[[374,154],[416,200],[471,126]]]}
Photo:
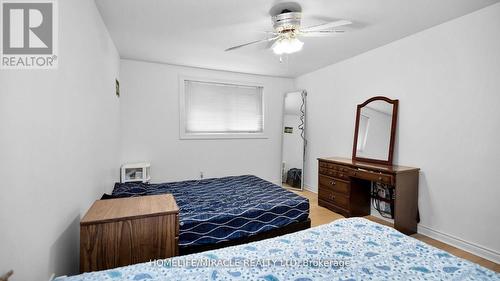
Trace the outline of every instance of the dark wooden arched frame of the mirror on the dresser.
{"label": "dark wooden arched frame of the mirror on the dresser", "polygon": [[[392,104],[392,124],[391,124],[391,140],[389,143],[389,155],[387,160],[381,160],[381,159],[371,159],[371,158],[363,158],[363,157],[358,157],[356,156],[356,151],[357,151],[357,146],[358,146],[358,131],[359,131],[359,119],[360,119],[360,114],[361,114],[361,109],[365,107],[367,104],[369,104],[372,101],[385,101],[390,104]],[[382,96],[377,96],[368,99],[362,104],[358,104],[357,110],[356,110],[356,124],[354,128],[354,144],[352,147],[352,160],[353,161],[359,161],[359,162],[368,162],[368,163],[375,163],[375,164],[383,164],[383,165],[392,165],[392,160],[394,156],[394,142],[395,142],[395,137],[396,137],[396,124],[398,120],[398,104],[399,100],[391,100],[390,98],[387,97],[382,97]]]}

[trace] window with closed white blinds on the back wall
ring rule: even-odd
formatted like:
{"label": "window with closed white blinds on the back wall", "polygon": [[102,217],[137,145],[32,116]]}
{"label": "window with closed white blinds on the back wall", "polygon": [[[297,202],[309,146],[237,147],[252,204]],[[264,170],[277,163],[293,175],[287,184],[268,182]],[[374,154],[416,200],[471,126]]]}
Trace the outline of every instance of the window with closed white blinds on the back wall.
{"label": "window with closed white blinds on the back wall", "polygon": [[263,88],[181,79],[181,138],[264,137]]}

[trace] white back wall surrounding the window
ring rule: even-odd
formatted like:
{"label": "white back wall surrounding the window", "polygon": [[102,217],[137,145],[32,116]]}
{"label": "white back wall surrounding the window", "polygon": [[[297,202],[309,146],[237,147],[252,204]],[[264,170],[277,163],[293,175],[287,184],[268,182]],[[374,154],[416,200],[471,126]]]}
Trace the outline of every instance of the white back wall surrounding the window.
{"label": "white back wall surrounding the window", "polygon": [[[264,86],[266,139],[179,139],[179,75]],[[122,60],[121,160],[151,161],[153,182],[255,174],[280,181],[283,94],[293,81]]]}

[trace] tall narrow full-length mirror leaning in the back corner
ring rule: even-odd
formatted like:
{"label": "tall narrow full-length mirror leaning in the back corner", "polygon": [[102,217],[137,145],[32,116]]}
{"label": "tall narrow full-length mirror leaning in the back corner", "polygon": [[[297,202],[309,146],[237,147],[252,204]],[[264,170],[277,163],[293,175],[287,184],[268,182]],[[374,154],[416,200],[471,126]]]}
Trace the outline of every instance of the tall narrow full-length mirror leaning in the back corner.
{"label": "tall narrow full-length mirror leaning in the back corner", "polygon": [[285,188],[304,187],[306,96],[305,91],[300,91],[284,97],[281,182]]}

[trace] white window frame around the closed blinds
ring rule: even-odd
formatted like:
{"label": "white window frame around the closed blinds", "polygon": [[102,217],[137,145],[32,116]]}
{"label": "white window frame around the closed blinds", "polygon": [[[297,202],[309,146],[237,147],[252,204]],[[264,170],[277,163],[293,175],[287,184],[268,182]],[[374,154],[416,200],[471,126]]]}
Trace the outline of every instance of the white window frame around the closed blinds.
{"label": "white window frame around the closed blinds", "polygon": [[[262,96],[262,132],[261,133],[187,133],[186,132],[186,81],[203,83],[228,84],[235,86],[256,87],[261,89]],[[179,139],[267,139],[266,108],[264,85],[249,81],[221,80],[193,76],[179,76]]]}

